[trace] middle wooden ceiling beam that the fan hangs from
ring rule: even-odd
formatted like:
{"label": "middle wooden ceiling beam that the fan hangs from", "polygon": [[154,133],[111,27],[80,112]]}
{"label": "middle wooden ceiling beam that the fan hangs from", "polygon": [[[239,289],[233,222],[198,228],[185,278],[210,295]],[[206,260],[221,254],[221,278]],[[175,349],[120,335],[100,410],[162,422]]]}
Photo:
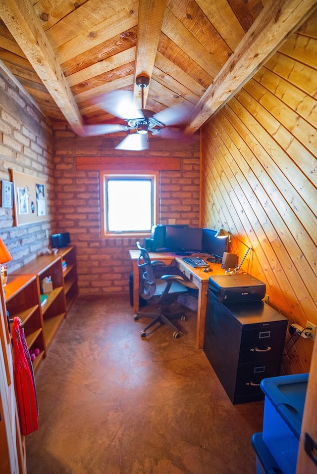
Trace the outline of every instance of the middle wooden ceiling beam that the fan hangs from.
{"label": "middle wooden ceiling beam that the fan hangs from", "polygon": [[[163,23],[166,0],[140,0],[138,17],[137,51],[135,57],[134,97],[141,107],[141,90],[135,84],[140,75],[151,80],[159,36]],[[148,98],[149,86],[144,89],[144,108]]]}

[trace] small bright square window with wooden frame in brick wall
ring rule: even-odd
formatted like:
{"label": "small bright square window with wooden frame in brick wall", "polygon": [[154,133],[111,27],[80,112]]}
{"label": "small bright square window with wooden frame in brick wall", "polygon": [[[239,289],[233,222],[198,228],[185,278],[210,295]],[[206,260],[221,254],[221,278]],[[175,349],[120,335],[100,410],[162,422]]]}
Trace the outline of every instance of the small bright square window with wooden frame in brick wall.
{"label": "small bright square window with wooden frame in brick wall", "polygon": [[158,220],[159,173],[100,174],[102,237],[146,236]]}

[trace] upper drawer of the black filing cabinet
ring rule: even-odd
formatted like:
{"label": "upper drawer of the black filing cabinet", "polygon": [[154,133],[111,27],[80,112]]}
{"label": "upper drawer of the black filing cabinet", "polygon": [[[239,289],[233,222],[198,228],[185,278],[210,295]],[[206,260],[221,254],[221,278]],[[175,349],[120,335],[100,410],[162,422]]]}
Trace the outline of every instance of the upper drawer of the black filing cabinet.
{"label": "upper drawer of the black filing cabinet", "polygon": [[279,359],[287,324],[255,328],[242,332],[239,363]]}

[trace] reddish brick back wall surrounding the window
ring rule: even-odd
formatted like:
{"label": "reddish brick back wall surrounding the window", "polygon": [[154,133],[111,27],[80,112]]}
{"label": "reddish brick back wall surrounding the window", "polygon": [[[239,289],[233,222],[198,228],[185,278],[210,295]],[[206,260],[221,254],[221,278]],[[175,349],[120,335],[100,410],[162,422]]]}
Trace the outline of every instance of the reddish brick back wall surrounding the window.
{"label": "reddish brick back wall surrounding the window", "polygon": [[[180,158],[179,171],[160,172],[160,222],[199,225],[198,141],[185,147],[179,143],[151,137],[150,150],[139,156]],[[83,139],[66,127],[54,127],[55,195],[53,219],[55,232],[69,232],[77,246],[79,287],[82,293],[128,292],[132,271],[129,249],[136,238],[101,238],[99,172],[76,169],[78,156],[117,156],[120,136]],[[123,152],[124,156],[136,156]]]}

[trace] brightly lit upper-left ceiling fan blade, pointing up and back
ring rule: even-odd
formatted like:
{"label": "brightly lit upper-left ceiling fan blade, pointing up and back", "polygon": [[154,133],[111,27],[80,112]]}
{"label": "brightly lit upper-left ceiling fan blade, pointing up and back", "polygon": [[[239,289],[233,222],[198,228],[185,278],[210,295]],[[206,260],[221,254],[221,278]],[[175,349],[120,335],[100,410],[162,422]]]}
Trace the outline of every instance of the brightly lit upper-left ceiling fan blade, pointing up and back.
{"label": "brightly lit upper-left ceiling fan blade, pointing up and back", "polygon": [[144,118],[142,110],[134,103],[134,97],[131,91],[108,92],[103,95],[98,103],[110,114],[124,120]]}

